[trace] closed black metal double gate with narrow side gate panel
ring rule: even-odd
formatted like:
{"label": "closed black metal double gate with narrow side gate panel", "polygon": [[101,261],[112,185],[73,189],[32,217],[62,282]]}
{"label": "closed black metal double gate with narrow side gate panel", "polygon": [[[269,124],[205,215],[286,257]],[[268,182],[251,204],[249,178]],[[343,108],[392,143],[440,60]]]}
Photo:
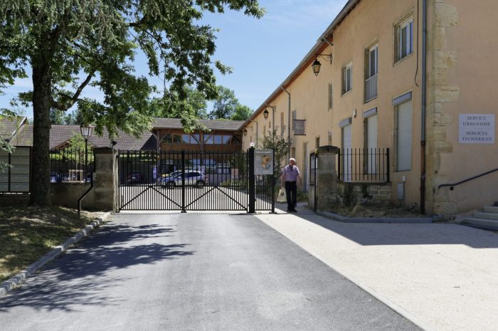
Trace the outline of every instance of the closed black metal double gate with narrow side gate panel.
{"label": "closed black metal double gate with narrow side gate panel", "polygon": [[[250,179],[249,152],[119,151],[120,210],[274,211],[273,176]],[[272,177],[272,178],[270,178]]]}

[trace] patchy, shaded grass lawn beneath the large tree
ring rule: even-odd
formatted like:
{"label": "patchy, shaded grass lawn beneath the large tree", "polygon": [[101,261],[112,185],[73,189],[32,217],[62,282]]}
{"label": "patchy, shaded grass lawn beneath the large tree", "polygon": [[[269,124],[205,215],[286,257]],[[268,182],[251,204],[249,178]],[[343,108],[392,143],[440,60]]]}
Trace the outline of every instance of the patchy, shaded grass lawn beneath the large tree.
{"label": "patchy, shaded grass lawn beneath the large tree", "polygon": [[63,207],[0,206],[0,283],[60,245],[103,213]]}

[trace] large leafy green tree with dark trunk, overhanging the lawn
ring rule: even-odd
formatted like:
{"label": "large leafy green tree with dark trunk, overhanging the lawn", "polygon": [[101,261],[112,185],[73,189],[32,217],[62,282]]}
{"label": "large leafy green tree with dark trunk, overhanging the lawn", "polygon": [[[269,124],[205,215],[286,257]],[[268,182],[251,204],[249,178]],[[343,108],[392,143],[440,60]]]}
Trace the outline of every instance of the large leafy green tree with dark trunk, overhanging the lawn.
{"label": "large leafy green tree with dark trunk, overhanging the lawn", "polygon": [[[33,91],[22,95],[33,105],[30,203],[47,202],[51,109],[77,104],[82,124],[111,135],[149,126],[155,89],[147,73],[136,73],[137,55],[147,58],[149,75],[164,78],[164,98],[184,98],[185,85],[215,98],[214,67],[228,68],[212,63],[213,28],[198,20],[203,11],[226,9],[263,15],[257,0],[1,0],[0,89],[26,77],[27,65],[32,70]],[[103,102],[83,97],[89,85],[102,91]]]}

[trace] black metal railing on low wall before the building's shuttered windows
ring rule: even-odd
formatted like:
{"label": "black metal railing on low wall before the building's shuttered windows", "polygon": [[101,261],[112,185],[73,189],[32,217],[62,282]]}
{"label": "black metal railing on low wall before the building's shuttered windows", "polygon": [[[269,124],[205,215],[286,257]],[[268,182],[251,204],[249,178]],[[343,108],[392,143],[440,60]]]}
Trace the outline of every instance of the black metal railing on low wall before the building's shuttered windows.
{"label": "black metal railing on low wall before the building's shuttered windows", "polygon": [[343,182],[388,183],[388,148],[343,148],[338,154],[339,180]]}

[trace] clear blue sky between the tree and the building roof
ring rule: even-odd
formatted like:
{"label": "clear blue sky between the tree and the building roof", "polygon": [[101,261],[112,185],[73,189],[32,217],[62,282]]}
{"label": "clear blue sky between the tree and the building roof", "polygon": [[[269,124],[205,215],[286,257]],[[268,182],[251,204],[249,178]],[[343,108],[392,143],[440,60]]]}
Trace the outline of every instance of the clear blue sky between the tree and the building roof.
{"label": "clear blue sky between the tree and the building roof", "polygon": [[[259,20],[235,11],[205,14],[203,22],[220,29],[213,60],[233,68],[228,75],[217,73],[218,85],[234,90],[243,105],[259,107],[300,63],[344,4],[346,0],[260,0],[267,14]],[[140,70],[147,73],[144,65],[137,65],[137,73]],[[5,90],[6,95],[0,95],[0,107],[8,107],[11,98],[31,86],[31,77],[16,80]],[[85,95],[99,98],[97,90],[85,90]],[[26,112],[32,117],[31,109]]]}

